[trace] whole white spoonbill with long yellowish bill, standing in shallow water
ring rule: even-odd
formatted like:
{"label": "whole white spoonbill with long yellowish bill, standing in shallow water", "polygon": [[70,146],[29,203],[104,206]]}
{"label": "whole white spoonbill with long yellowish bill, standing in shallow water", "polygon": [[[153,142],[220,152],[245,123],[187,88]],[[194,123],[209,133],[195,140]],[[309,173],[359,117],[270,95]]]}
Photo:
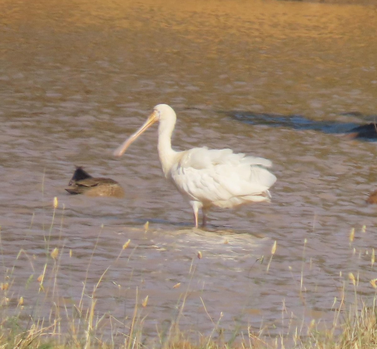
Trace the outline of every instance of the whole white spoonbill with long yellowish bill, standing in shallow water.
{"label": "whole white spoonbill with long yellowish bill, standing in shallow water", "polygon": [[159,121],[158,155],[162,171],[179,192],[189,199],[198,227],[198,211],[203,212],[203,226],[212,206],[233,208],[252,201],[269,201],[268,189],[276,177],[266,170],[268,159],[233,153],[231,149],[193,148],[177,152],[171,138],[176,122],[175,111],[167,104],[153,108],[147,121],[115,150],[121,156],[149,126]]}

